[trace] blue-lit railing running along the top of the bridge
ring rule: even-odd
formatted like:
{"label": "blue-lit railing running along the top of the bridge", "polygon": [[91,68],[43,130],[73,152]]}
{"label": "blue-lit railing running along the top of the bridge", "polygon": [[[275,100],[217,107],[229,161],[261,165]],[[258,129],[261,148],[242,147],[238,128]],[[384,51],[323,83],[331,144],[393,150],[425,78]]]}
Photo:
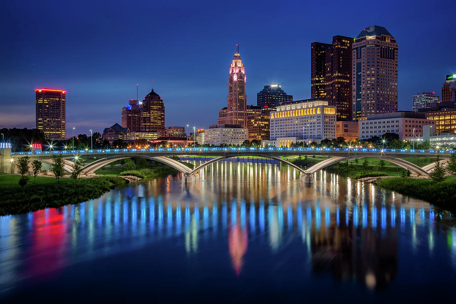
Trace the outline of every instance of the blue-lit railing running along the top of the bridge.
{"label": "blue-lit railing running along the top of the bridge", "polygon": [[340,147],[340,148],[327,148],[327,147],[301,147],[301,148],[275,148],[275,147],[256,147],[256,148],[116,148],[116,149],[83,149],[83,150],[50,150],[50,151],[21,151],[13,152],[11,155],[66,155],[66,154],[78,154],[78,155],[90,155],[90,154],[138,154],[138,153],[163,153],[163,152],[176,152],[176,153],[192,153],[197,152],[201,153],[204,151],[226,151],[227,153],[267,153],[268,151],[296,151],[296,152],[315,152],[315,153],[324,153],[324,152],[339,152],[339,153],[359,153],[359,154],[401,154],[401,153],[416,153],[416,154],[452,154],[455,153],[454,150],[415,150],[415,149],[390,149],[390,148],[349,148],[349,147]]}

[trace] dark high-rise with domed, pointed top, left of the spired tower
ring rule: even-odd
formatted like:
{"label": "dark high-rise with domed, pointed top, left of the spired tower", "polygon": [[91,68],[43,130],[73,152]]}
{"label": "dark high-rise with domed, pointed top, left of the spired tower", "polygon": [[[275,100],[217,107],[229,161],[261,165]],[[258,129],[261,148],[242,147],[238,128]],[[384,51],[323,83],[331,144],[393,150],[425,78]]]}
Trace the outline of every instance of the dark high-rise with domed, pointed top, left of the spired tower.
{"label": "dark high-rise with domed, pointed top, left of the spired tower", "polygon": [[141,131],[153,131],[159,137],[166,136],[165,105],[154,89],[147,94],[141,106]]}

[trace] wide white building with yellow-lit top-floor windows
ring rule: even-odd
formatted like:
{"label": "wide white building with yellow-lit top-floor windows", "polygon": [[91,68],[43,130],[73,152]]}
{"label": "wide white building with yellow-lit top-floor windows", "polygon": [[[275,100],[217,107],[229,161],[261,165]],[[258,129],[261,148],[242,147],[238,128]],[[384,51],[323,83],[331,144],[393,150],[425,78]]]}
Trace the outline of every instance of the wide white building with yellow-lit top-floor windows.
{"label": "wide white building with yellow-lit top-floor windows", "polygon": [[336,137],[335,106],[319,99],[297,100],[270,114],[270,140],[297,137],[311,142]]}

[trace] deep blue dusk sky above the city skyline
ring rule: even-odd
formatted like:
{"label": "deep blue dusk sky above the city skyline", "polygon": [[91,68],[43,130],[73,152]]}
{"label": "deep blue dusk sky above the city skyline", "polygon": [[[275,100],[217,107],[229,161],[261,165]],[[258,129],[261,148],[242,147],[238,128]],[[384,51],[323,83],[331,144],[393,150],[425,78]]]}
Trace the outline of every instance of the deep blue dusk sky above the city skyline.
{"label": "deep blue dusk sky above the city skyline", "polygon": [[2,1],[0,128],[35,127],[34,90],[67,91],[67,136],[121,123],[150,92],[166,126],[208,127],[226,106],[240,45],[247,104],[278,83],[310,98],[310,45],[386,27],[399,43],[399,109],[419,91],[441,94],[456,73],[454,1]]}

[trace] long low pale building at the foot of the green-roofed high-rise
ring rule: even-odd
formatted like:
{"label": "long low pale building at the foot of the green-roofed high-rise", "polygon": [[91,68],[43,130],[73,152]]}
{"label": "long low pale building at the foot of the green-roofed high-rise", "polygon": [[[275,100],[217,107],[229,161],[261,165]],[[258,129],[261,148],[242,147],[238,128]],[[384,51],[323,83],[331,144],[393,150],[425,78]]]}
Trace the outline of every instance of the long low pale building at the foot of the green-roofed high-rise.
{"label": "long low pale building at the foot of the green-roofed high-rise", "polygon": [[423,136],[423,126],[435,125],[424,113],[401,111],[368,116],[359,120],[359,140],[374,136],[382,137],[385,133],[395,133],[399,139]]}

